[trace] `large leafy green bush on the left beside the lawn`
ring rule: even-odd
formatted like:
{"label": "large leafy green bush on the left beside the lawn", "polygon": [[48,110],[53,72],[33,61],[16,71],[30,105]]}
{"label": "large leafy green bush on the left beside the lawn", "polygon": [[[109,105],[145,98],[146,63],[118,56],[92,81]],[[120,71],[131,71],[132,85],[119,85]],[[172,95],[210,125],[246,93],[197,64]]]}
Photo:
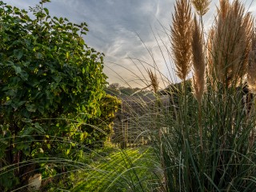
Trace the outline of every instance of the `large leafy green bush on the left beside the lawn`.
{"label": "large leafy green bush on the left beside the lawn", "polygon": [[[84,42],[85,22],[52,18],[44,2],[30,8],[32,18],[0,2],[1,169],[30,158],[67,157],[74,142],[86,141],[82,125],[101,114],[103,54]],[[12,184],[1,182],[0,190],[15,186],[15,176],[26,172],[26,166],[6,172]]]}

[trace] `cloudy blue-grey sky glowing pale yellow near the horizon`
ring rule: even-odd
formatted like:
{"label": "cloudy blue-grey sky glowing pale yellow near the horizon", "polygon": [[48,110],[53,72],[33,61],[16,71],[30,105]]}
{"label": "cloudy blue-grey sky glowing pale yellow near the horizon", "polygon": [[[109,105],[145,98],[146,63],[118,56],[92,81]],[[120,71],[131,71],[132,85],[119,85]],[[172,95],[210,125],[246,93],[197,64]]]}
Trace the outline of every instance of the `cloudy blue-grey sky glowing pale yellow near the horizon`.
{"label": "cloudy blue-grey sky glowing pale yellow near the horizon", "polygon": [[[233,0],[230,0],[232,2]],[[38,0],[3,0],[11,6],[28,10]],[[256,0],[241,0],[246,10],[256,16]],[[168,56],[168,33],[174,0],[51,0],[45,6],[51,16],[70,22],[86,22],[86,44],[104,53],[104,73],[108,82],[122,86],[148,85],[147,69],[160,71],[160,87],[177,82],[174,64]],[[206,30],[214,21],[218,0],[212,0],[203,17]],[[161,48],[161,49],[160,49]],[[156,70],[154,70],[156,69]]]}

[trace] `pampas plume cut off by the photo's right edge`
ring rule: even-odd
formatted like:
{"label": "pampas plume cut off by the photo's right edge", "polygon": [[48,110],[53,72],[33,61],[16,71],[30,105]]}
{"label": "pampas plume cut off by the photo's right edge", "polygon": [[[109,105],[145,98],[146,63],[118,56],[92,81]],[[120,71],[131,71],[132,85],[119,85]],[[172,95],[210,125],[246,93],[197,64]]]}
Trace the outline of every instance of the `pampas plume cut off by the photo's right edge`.
{"label": "pampas plume cut off by the photo's right edge", "polygon": [[256,94],[256,34],[252,39],[252,47],[250,50],[249,65],[247,69],[247,83],[251,93]]}

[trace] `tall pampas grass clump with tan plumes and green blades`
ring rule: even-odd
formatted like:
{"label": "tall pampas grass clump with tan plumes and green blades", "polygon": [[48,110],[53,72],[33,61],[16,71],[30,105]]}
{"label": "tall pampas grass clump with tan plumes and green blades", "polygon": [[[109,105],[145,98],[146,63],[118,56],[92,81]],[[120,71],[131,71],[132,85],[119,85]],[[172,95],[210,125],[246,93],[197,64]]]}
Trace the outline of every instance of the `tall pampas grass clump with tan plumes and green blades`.
{"label": "tall pampas grass clump with tan plumes and green blades", "polygon": [[189,0],[174,9],[170,40],[182,86],[166,89],[167,131],[154,137],[160,190],[256,191],[254,18],[240,1],[220,0],[205,34],[198,23],[206,2],[193,1],[194,20]]}

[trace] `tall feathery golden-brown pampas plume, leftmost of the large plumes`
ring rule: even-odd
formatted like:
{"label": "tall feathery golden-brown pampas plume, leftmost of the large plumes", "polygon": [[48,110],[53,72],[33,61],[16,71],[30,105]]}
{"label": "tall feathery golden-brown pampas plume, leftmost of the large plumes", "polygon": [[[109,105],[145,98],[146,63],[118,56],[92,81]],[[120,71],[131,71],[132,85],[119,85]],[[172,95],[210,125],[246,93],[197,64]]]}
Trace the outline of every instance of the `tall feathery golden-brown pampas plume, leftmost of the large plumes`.
{"label": "tall feathery golden-brown pampas plume, leftmost of the large plumes", "polygon": [[189,0],[178,0],[174,6],[171,26],[171,44],[178,78],[183,82],[191,68],[191,6]]}

